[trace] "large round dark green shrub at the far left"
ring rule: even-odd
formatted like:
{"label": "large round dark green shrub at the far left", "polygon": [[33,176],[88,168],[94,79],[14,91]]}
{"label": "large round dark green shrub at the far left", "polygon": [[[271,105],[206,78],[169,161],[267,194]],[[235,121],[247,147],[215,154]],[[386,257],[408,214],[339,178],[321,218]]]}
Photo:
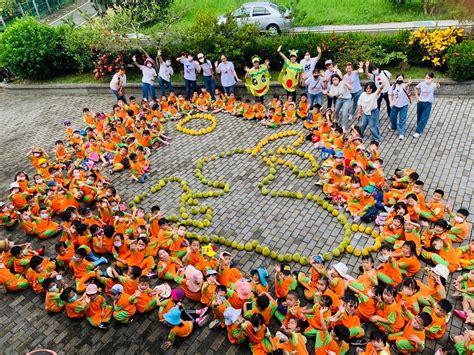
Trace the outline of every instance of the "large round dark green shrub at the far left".
{"label": "large round dark green shrub at the far left", "polygon": [[0,38],[0,63],[18,77],[41,79],[57,75],[63,70],[65,59],[55,28],[32,17],[16,20]]}

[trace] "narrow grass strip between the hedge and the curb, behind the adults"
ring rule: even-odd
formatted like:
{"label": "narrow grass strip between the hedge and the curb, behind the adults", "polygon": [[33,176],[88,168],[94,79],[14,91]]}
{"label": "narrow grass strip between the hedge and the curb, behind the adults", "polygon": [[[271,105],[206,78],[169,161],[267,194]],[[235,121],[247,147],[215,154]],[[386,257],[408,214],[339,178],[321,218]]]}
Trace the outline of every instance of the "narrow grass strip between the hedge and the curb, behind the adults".
{"label": "narrow grass strip between the hedge and the curb, behind the adults", "polygon": [[[384,67],[384,69],[390,71],[393,76],[397,75],[400,72],[400,69],[397,67]],[[425,77],[425,74],[430,69],[425,67],[410,67],[407,71],[404,72],[406,79],[421,79]],[[437,79],[447,79],[448,76],[436,70],[433,70],[435,73],[435,78]],[[272,71],[272,80],[276,81],[278,78],[278,71]],[[244,77],[243,73],[239,73],[240,78]],[[54,78],[49,78],[43,81],[32,81],[32,80],[23,80],[18,79],[15,80],[14,83],[16,84],[108,84],[112,75],[109,75],[105,78],[100,78],[99,80],[95,80],[92,73],[82,73],[82,74],[68,74],[63,76],[57,76]],[[361,76],[362,79],[365,79],[365,75]],[[142,75],[141,72],[135,69],[128,69],[127,70],[127,82],[128,83],[141,83]],[[395,80],[395,79],[393,79]],[[176,73],[171,78],[173,83],[179,83],[183,81],[182,73]]]}

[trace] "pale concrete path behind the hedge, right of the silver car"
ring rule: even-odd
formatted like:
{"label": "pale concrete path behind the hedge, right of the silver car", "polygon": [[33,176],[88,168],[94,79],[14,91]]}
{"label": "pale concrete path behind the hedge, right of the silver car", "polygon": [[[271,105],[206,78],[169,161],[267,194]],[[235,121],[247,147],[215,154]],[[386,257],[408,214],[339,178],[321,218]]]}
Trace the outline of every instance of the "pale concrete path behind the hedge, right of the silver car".
{"label": "pale concrete path behind the hedge, right of the silver car", "polygon": [[389,22],[389,23],[372,23],[368,25],[327,25],[327,26],[310,26],[310,27],[293,27],[290,33],[344,33],[344,32],[398,32],[401,30],[415,30],[419,27],[426,27],[427,29],[443,29],[451,26],[463,26],[466,32],[472,32],[474,22],[472,21],[458,21],[458,20],[442,20],[442,21],[412,21],[412,22]]}

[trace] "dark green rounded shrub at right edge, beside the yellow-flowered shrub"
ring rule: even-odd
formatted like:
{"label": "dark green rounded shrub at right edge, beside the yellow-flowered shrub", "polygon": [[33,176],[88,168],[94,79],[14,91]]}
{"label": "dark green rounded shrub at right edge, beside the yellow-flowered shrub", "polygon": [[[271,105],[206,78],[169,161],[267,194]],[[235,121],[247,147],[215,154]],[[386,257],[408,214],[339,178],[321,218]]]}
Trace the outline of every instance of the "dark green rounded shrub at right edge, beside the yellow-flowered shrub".
{"label": "dark green rounded shrub at right edge, beside the yellow-flowered shrub", "polygon": [[450,47],[446,64],[448,74],[454,80],[474,79],[474,40],[465,40]]}

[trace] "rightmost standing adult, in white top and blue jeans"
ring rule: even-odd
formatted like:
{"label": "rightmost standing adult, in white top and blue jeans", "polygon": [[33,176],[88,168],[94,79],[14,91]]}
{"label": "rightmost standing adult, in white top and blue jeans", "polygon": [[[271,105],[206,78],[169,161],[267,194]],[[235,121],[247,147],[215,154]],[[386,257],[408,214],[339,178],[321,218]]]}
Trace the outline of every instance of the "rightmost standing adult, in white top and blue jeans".
{"label": "rightmost standing adult, in white top and blue jeans", "polygon": [[434,82],[434,73],[426,73],[425,80],[415,87],[416,94],[416,130],[413,135],[418,138],[423,133],[428,120],[430,119],[431,108],[434,102],[434,92],[439,89],[439,82]]}

